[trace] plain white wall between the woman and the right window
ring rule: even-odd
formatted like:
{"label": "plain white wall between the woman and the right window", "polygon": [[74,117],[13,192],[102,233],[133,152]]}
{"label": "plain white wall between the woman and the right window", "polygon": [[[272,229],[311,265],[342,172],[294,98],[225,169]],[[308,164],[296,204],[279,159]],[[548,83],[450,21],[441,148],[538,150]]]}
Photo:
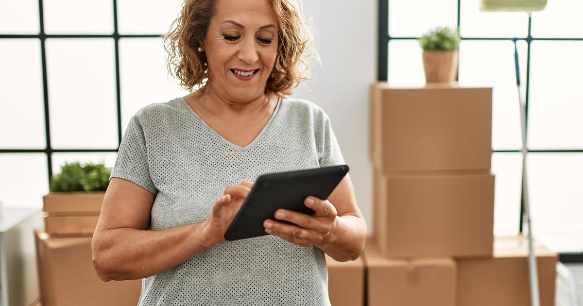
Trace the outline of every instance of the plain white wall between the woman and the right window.
{"label": "plain white wall between the woman and the right window", "polygon": [[374,0],[304,0],[312,19],[322,66],[312,65],[314,80],[294,97],[320,105],[338,138],[356,199],[371,231],[371,181],[368,160],[369,87],[377,76],[378,5]]}

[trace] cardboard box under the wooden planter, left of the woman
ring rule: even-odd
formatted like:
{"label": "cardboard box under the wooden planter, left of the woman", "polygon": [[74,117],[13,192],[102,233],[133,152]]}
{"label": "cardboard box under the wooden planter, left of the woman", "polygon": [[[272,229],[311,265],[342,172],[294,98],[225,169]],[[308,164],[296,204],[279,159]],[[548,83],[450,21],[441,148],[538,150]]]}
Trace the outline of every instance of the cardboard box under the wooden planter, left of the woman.
{"label": "cardboard box under the wooden planter, left of the woman", "polygon": [[93,268],[91,237],[36,237],[43,306],[136,305],[142,280],[103,282]]}

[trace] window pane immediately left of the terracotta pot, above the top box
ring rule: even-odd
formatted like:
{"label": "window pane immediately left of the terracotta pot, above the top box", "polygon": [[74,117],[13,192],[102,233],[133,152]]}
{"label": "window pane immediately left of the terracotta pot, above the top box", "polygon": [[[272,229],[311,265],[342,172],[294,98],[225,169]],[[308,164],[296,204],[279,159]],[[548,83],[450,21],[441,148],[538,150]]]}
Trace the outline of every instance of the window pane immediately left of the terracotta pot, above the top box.
{"label": "window pane immediately left of the terracotta pot, above the top box", "polygon": [[389,41],[388,79],[391,86],[424,86],[422,49],[417,40]]}

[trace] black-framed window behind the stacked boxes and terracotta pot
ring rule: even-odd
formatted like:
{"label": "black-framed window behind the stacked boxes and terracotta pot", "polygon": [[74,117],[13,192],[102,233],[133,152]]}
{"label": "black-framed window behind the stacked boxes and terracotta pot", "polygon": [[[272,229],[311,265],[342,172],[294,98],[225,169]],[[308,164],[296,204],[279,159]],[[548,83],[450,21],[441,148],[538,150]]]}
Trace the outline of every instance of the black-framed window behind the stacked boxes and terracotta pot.
{"label": "black-framed window behind the stacked boxes and terracotta pot", "polygon": [[529,200],[533,234],[583,261],[583,20],[577,0],[549,1],[542,12],[484,13],[479,0],[380,0],[378,80],[423,86],[416,38],[436,26],[460,28],[458,82],[493,87],[494,234],[521,230],[522,149],[514,43],[527,103]]}

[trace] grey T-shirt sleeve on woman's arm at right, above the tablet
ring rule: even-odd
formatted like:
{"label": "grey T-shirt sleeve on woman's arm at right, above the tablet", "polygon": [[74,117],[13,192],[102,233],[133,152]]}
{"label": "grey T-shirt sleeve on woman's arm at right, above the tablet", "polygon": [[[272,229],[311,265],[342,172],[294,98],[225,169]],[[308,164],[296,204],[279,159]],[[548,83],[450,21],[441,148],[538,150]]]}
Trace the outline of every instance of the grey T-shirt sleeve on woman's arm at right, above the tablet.
{"label": "grey T-shirt sleeve on woman's arm at right, above the tablet", "polygon": [[345,164],[342,152],[340,152],[340,146],[338,145],[338,140],[332,131],[332,125],[330,118],[327,114],[323,114],[323,120],[321,128],[317,128],[316,135],[318,139],[318,162],[320,167],[338,166]]}

